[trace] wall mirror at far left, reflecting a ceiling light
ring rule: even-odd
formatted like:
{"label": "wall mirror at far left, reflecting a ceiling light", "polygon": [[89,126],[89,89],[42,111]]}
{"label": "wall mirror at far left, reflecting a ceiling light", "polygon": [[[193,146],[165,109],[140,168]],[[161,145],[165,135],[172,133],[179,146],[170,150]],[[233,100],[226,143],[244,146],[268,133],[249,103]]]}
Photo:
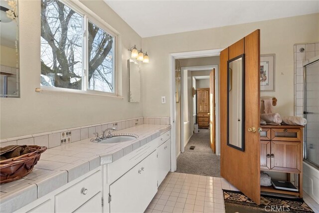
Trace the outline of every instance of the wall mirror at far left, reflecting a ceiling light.
{"label": "wall mirror at far left, reflecting a ceiling light", "polygon": [[0,97],[19,98],[17,0],[0,0]]}

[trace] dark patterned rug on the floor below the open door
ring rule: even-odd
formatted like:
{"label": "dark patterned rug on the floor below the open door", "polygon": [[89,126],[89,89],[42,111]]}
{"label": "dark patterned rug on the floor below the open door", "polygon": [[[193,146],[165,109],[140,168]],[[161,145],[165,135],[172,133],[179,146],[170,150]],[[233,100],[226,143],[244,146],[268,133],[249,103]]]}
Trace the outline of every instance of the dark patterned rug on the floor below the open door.
{"label": "dark patterned rug on the floor below the open door", "polygon": [[313,213],[302,198],[261,196],[261,205],[255,204],[243,193],[223,190],[226,213],[289,212]]}

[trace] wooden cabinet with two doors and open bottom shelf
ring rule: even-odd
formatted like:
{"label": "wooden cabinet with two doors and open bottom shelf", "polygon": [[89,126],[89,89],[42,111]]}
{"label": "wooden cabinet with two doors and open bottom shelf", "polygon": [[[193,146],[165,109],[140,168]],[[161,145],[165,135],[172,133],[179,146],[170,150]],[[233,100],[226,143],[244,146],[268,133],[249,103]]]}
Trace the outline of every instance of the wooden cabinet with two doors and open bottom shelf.
{"label": "wooden cabinet with two doors and open bottom shelf", "polygon": [[260,169],[298,174],[299,192],[261,187],[261,191],[302,197],[303,126],[262,126],[260,133]]}

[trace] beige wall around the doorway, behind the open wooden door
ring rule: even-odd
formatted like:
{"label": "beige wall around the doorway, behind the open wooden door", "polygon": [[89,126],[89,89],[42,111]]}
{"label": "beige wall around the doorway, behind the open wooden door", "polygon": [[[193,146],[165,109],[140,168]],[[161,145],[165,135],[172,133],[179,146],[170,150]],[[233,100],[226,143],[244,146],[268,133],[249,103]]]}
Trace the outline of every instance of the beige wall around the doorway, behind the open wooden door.
{"label": "beige wall around the doorway, behind the open wooden door", "polygon": [[[276,111],[294,114],[294,44],[319,38],[319,13],[143,38],[152,62],[144,66],[145,116],[169,116],[169,53],[225,48],[250,32],[261,29],[261,54],[276,54],[276,91],[261,96],[278,99]],[[256,70],[257,71],[257,70]]]}

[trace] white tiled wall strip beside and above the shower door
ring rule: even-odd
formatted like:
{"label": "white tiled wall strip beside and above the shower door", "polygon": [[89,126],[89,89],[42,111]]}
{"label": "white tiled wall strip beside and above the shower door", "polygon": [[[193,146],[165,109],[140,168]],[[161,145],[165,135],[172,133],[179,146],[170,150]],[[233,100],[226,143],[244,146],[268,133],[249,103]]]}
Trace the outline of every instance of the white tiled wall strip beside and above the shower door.
{"label": "white tiled wall strip beside and above the shower door", "polygon": [[304,67],[303,62],[319,55],[319,43],[304,43],[294,46],[295,62],[295,116],[304,117]]}

